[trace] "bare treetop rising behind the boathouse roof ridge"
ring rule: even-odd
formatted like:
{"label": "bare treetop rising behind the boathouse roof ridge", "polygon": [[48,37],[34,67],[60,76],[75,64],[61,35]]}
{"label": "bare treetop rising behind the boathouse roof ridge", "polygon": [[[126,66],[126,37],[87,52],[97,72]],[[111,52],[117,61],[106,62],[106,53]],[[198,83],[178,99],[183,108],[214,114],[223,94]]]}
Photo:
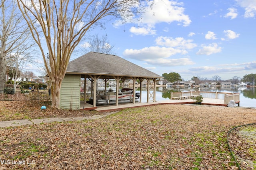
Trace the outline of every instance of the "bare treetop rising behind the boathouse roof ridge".
{"label": "bare treetop rising behind the boathouse roof ridge", "polygon": [[89,39],[89,42],[82,45],[82,51],[84,53],[94,51],[97,53],[115,55],[114,45],[110,45],[107,35],[102,35],[102,37],[99,37],[99,35],[96,34],[92,36],[92,38]]}

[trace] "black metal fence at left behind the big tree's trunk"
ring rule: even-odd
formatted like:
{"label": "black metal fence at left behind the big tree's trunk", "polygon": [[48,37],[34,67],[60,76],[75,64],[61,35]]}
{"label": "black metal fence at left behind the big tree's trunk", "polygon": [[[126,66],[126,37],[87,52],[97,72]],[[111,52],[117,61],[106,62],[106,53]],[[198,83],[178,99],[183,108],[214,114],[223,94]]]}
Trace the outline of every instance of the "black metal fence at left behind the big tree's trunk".
{"label": "black metal fence at left behind the big tree's trunk", "polygon": [[45,90],[38,90],[32,92],[31,90],[15,91],[14,94],[6,94],[4,91],[0,91],[0,101],[50,101],[50,93]]}

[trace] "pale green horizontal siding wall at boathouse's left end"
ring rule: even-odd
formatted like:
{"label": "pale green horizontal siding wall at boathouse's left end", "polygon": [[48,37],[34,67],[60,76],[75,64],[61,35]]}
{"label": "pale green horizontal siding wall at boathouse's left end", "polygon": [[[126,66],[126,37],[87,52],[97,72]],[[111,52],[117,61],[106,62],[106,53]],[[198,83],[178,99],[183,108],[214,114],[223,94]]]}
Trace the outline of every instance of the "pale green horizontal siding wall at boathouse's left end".
{"label": "pale green horizontal siding wall at boathouse's left end", "polygon": [[80,74],[66,74],[60,89],[61,109],[80,109]]}

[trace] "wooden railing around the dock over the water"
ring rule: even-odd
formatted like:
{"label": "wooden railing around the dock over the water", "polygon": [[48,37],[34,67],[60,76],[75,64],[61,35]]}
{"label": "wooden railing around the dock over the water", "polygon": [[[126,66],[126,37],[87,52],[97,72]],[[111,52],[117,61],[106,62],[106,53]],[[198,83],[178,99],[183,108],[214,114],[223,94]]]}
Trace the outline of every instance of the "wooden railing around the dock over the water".
{"label": "wooden railing around the dock over the water", "polygon": [[171,92],[171,100],[184,100],[193,96],[202,96],[203,98],[222,99],[223,104],[228,104],[230,100],[234,100],[235,103],[240,102],[239,93],[226,93],[226,92],[201,92],[201,91],[190,91],[190,92]]}

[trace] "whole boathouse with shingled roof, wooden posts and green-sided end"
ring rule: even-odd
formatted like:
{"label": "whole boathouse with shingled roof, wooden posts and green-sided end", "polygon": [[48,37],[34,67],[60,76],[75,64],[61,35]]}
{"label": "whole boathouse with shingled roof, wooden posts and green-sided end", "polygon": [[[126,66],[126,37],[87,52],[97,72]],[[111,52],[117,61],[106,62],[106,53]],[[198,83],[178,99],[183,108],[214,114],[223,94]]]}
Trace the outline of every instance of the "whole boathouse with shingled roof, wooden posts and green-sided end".
{"label": "whole boathouse with shingled roof, wooden posts and green-sided end", "polygon": [[[92,96],[94,99],[92,107],[96,107],[97,84],[95,82],[97,82],[98,79],[104,80],[105,90],[106,82],[110,79],[114,79],[116,82],[122,82],[123,85],[125,80],[133,80],[133,89],[135,89],[136,80],[140,82],[146,80],[147,102],[156,102],[156,79],[162,78],[162,76],[116,55],[89,52],[68,63],[68,68],[60,90],[60,108],[80,109],[81,78],[85,80],[84,89],[86,89],[86,80],[92,82]],[[118,85],[117,83],[116,92],[119,91]],[[140,83],[140,94],[141,89]],[[133,96],[135,96],[135,90],[133,90]],[[116,93],[116,98],[118,98],[118,93]],[[86,102],[85,98],[84,102]],[[133,98],[132,103],[135,103],[135,98]],[[116,106],[118,106],[118,100]]]}

